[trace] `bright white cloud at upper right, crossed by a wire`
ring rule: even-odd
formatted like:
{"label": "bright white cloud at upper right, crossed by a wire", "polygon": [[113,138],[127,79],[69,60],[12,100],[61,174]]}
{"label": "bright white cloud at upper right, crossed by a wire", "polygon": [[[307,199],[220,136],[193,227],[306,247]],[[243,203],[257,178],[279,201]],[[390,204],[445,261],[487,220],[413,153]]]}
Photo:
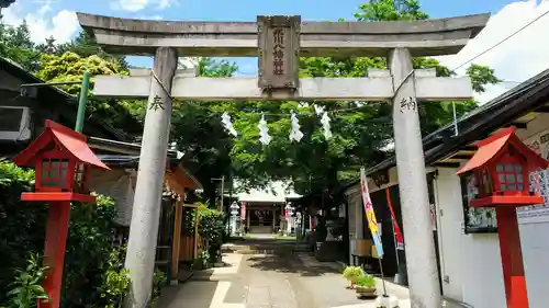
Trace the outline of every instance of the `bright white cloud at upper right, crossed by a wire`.
{"label": "bright white cloud at upper right, crossed by a wire", "polygon": [[[548,10],[549,0],[509,3],[495,13],[490,19],[486,27],[458,55],[437,58],[442,65],[453,69],[492,47]],[[500,79],[511,81],[489,87],[485,93],[477,98],[479,101],[486,102],[518,85],[517,82],[513,81],[525,81],[549,68],[549,41],[546,39],[548,28],[549,14],[472,61],[490,66],[495,70]],[[458,75],[463,75],[467,67],[469,65],[460,68],[457,71]]]}

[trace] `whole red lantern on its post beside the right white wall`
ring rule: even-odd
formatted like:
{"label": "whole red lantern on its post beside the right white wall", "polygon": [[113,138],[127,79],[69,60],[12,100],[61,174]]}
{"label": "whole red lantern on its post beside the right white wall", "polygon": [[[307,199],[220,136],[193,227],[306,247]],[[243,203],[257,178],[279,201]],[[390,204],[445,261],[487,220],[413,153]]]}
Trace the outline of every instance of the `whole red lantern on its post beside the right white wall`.
{"label": "whole red lantern on its post beside the right white wall", "polygon": [[544,203],[542,196],[529,191],[529,173],[547,169],[549,162],[520,141],[515,130],[501,129],[479,141],[478,151],[457,174],[474,174],[478,195],[471,207],[495,208],[507,308],[527,308],[516,208]]}

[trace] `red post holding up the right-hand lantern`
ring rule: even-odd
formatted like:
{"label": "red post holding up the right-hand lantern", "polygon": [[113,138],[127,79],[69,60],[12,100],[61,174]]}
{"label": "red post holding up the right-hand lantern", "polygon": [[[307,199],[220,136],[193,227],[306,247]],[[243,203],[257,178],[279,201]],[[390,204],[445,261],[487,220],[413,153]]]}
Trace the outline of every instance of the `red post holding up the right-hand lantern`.
{"label": "red post holding up the right-hand lantern", "polygon": [[496,207],[495,216],[507,308],[528,308],[516,208]]}

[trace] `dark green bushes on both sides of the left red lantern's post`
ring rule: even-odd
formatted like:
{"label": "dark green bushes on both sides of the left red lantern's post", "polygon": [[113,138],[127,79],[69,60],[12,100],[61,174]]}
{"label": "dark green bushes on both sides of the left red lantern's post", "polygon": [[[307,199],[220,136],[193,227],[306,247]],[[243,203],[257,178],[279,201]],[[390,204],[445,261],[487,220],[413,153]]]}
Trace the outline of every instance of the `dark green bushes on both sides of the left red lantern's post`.
{"label": "dark green bushes on both sides of the left red lantern's post", "polygon": [[[0,161],[0,289],[13,290],[0,292],[0,307],[35,307],[36,298],[42,296],[44,269],[36,265],[33,255],[44,251],[47,206],[21,201],[21,193],[33,187],[32,170]],[[115,216],[116,204],[107,196],[97,196],[97,204],[71,204],[61,307],[122,307],[130,277],[124,270],[125,249],[113,244]],[[155,272],[153,300],[165,283],[166,275]],[[29,300],[15,299],[15,290],[26,292],[23,298]],[[14,300],[21,305],[14,306]]]}

